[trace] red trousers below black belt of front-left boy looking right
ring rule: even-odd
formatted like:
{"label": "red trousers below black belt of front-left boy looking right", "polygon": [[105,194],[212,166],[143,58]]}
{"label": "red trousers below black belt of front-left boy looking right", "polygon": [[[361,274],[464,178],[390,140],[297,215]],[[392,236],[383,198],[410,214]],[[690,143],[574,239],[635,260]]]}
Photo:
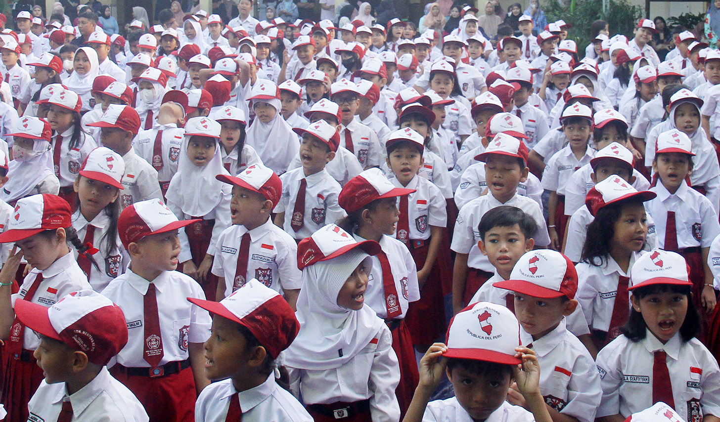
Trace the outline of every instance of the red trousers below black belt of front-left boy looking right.
{"label": "red trousers below black belt of front-left boy looking right", "polygon": [[[192,367],[175,374],[150,378],[127,375],[112,367],[112,376],[129,388],[143,403],[145,412],[153,422],[186,422],[195,418],[195,379]],[[23,421],[24,422],[24,421]]]}

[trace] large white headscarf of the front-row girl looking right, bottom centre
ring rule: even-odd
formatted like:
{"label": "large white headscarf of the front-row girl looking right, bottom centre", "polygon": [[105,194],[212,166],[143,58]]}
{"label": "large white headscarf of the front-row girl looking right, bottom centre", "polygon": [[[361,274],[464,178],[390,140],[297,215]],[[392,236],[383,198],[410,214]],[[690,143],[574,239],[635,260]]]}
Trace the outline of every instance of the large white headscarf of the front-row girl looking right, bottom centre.
{"label": "large white headscarf of the front-row girl looking right, bottom centre", "polygon": [[[346,364],[376,338],[384,322],[364,304],[359,311],[338,305],[338,293],[369,254],[352,249],[302,270],[302,289],[295,316],[300,332],[285,350],[285,364],[307,370],[331,370]],[[342,353],[338,353],[342,350]]]}

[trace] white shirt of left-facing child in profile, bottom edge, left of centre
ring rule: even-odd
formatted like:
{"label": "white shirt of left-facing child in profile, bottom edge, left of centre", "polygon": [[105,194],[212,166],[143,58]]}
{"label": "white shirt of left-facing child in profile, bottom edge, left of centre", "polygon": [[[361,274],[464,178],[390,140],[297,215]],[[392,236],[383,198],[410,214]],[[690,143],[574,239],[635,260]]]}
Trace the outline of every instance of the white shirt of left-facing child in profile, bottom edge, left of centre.
{"label": "white shirt of left-facing child in profile, bottom edge, left of centre", "polygon": [[195,422],[225,422],[230,400],[236,394],[243,422],[312,422],[297,398],[277,385],[274,373],[261,385],[239,393],[229,378],[208,385],[195,402]]}

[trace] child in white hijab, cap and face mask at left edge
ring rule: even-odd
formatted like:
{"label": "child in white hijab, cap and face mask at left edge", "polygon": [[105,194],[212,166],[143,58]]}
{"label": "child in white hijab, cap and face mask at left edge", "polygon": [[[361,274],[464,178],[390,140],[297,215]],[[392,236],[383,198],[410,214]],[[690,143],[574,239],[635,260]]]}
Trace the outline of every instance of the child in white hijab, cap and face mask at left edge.
{"label": "child in white hijab, cap and face mask at left edge", "polygon": [[[27,126],[27,127],[26,127]],[[0,199],[14,206],[25,196],[37,193],[57,195],[60,181],[53,173],[53,155],[50,152],[50,136],[53,131],[48,121],[23,116],[15,124],[13,160],[9,162],[8,180],[0,191]]]}

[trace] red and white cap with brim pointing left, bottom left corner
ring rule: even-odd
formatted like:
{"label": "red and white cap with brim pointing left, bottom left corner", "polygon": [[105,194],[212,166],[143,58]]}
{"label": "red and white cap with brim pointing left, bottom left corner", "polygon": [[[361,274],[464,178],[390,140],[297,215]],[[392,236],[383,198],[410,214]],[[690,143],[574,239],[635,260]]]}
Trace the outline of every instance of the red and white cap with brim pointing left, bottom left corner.
{"label": "red and white cap with brim pointing left, bottom left corner", "polygon": [[27,328],[84,352],[97,365],[107,364],[127,344],[122,309],[91,289],[69,293],[49,308],[17,301],[15,313]]}

